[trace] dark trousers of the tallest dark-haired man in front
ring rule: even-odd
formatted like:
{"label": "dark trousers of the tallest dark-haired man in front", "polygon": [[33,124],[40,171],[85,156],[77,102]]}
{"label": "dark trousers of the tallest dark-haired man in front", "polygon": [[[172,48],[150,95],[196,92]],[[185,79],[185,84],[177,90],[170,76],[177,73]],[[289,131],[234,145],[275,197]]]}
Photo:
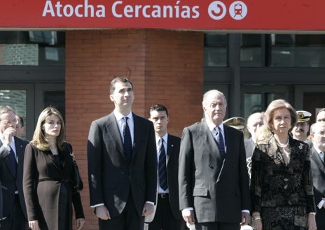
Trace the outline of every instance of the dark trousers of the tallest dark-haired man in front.
{"label": "dark trousers of the tallest dark-haired man in front", "polygon": [[120,215],[110,220],[99,219],[99,230],[144,230],[144,217],[137,214],[131,192]]}

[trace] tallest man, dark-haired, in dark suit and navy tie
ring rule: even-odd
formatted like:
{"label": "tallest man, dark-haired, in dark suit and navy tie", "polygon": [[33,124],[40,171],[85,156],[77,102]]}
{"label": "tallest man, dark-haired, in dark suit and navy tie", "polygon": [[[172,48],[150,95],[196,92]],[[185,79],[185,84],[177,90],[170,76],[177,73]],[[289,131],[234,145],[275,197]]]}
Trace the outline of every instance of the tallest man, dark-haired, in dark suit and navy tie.
{"label": "tallest man, dark-haired, in dark suit and navy tie", "polygon": [[109,98],[115,110],[93,121],[88,136],[90,206],[101,230],[141,230],[156,200],[153,123],[132,113],[127,78],[112,80]]}

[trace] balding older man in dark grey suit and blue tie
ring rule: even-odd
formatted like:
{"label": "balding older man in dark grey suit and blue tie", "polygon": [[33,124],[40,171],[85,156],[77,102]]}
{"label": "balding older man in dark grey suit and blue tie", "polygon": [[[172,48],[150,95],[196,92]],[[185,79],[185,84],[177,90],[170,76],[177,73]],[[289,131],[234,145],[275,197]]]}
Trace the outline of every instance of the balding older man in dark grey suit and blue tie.
{"label": "balding older man in dark grey suit and blue tie", "polygon": [[179,152],[179,205],[198,230],[240,229],[248,224],[251,199],[244,136],[223,125],[226,97],[203,96],[205,121],[184,128]]}

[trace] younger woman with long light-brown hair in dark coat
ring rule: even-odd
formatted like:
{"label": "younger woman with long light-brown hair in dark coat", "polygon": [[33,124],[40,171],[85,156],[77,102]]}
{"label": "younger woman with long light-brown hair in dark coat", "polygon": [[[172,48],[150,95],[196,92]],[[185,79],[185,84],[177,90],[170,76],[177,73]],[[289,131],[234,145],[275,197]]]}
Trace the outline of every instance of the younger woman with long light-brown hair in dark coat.
{"label": "younger woman with long light-brown hair in dark coat", "polygon": [[48,107],[25,150],[23,189],[32,230],[72,230],[72,204],[77,229],[85,222],[81,196],[70,182],[74,165],[64,131],[62,115]]}

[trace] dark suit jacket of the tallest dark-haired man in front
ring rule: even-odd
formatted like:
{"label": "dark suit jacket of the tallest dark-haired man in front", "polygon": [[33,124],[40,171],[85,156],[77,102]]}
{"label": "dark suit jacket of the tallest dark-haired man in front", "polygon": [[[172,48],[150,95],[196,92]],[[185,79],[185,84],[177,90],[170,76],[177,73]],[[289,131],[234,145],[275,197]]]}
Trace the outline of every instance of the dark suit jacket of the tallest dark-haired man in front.
{"label": "dark suit jacket of the tallest dark-haired man in front", "polygon": [[[134,215],[144,221],[141,218],[144,204],[146,201],[155,203],[156,199],[157,159],[153,123],[132,115],[134,144],[130,163],[125,158],[113,113],[93,121],[88,136],[90,206],[104,203],[112,220],[119,217],[125,207],[132,205]],[[99,220],[99,226],[110,221]]]}

